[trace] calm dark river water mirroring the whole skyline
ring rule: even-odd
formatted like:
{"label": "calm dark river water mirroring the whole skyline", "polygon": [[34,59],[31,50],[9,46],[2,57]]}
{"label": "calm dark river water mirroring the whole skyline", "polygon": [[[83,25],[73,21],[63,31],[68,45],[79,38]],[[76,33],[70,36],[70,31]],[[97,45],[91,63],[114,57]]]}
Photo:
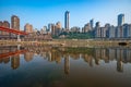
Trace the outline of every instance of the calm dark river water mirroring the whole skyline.
{"label": "calm dark river water mirroring the whole skyline", "polygon": [[2,46],[0,87],[131,87],[131,48]]}

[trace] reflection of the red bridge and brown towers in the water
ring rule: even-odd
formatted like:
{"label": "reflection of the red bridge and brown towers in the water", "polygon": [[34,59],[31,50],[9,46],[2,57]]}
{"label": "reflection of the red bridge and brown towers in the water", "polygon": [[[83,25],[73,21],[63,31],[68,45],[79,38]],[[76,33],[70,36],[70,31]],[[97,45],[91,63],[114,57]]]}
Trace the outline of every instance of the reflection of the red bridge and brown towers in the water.
{"label": "reflection of the red bridge and brown towers in the water", "polygon": [[0,47],[0,63],[9,63],[11,61],[11,67],[13,70],[17,69],[20,66],[20,54],[23,52],[26,52],[23,48],[20,48],[20,46],[5,46]]}

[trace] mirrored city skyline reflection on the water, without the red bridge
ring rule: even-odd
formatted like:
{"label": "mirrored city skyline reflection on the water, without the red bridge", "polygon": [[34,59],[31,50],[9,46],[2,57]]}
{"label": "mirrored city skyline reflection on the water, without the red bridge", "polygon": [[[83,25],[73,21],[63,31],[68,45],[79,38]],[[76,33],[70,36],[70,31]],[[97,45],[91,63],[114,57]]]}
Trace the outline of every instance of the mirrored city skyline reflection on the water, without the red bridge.
{"label": "mirrored city skyline reflection on the water, without the red bridge", "polygon": [[[130,48],[55,48],[50,46],[39,47],[24,47],[27,52],[24,54],[24,60],[29,62],[33,60],[34,54],[48,60],[49,62],[61,63],[64,61],[64,74],[70,73],[70,59],[79,60],[83,59],[90,66],[94,64],[99,65],[100,60],[105,63],[117,61],[117,72],[123,72],[123,63],[131,63],[131,49]],[[9,47],[0,49],[0,54],[15,51],[17,48]],[[21,50],[21,49],[20,49]],[[13,70],[20,66],[20,54],[14,54],[7,58],[0,58],[0,63],[9,63],[11,61],[11,67]]]}

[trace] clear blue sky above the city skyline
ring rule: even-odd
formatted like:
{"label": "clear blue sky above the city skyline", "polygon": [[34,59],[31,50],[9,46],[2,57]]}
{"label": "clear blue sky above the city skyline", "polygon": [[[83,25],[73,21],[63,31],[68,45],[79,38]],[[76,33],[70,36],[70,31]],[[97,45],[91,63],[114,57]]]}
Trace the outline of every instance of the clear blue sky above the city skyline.
{"label": "clear blue sky above the city skyline", "polygon": [[61,22],[64,27],[64,12],[70,11],[70,27],[83,27],[90,20],[117,25],[117,16],[124,14],[124,22],[131,24],[131,0],[0,0],[0,21],[11,16],[20,17],[21,29],[29,23],[43,28],[49,23]]}

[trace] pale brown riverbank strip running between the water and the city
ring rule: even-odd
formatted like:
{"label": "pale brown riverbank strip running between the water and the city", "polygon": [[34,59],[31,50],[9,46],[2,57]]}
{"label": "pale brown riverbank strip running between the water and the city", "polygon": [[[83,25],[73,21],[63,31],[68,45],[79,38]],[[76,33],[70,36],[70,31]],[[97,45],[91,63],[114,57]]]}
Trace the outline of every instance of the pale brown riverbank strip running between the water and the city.
{"label": "pale brown riverbank strip running between the water and the city", "polygon": [[0,40],[0,46],[45,46],[50,45],[55,47],[117,47],[119,42],[126,42],[126,46],[131,46],[131,40],[94,40],[94,39],[53,39],[51,41],[10,41]]}

